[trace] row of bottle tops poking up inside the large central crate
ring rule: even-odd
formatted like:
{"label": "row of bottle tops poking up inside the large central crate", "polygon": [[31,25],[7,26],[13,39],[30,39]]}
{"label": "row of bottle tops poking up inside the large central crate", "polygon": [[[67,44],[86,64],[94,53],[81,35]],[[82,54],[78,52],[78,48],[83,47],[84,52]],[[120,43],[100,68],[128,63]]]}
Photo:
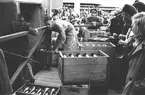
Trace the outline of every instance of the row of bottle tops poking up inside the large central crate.
{"label": "row of bottle tops poking up inside the large central crate", "polygon": [[66,54],[63,54],[64,58],[67,58],[67,57],[71,57],[71,58],[73,58],[73,57],[98,57],[98,56],[100,56],[100,55],[95,54],[95,53],[91,53],[90,55],[87,53],[83,53],[83,54],[77,53],[75,55],[73,53],[70,53],[70,54],[68,54],[68,56]]}

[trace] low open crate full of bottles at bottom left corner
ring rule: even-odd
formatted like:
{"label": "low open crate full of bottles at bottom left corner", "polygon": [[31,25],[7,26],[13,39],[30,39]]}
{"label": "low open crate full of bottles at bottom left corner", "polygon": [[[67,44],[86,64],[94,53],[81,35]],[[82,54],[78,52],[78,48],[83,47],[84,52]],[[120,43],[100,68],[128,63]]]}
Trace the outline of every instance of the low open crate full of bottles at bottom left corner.
{"label": "low open crate full of bottles at bottom left corner", "polygon": [[58,95],[60,88],[35,84],[24,84],[16,91],[16,95]]}

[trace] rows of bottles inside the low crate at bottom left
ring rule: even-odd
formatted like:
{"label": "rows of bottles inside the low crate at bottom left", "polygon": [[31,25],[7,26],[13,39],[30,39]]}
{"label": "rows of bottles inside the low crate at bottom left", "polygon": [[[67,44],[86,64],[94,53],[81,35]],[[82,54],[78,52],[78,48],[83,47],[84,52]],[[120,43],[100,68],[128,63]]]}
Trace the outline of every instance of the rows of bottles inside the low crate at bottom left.
{"label": "rows of bottles inside the low crate at bottom left", "polygon": [[40,88],[36,86],[26,86],[20,90],[23,94],[31,94],[31,95],[57,95],[57,88]]}

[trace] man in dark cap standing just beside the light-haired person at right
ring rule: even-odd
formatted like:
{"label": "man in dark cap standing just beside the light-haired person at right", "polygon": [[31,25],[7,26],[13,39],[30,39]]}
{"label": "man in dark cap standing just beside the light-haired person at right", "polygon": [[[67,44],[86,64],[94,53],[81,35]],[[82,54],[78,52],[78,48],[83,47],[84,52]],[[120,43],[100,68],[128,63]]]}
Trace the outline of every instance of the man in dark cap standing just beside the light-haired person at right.
{"label": "man in dark cap standing just beside the light-haired person at right", "polygon": [[[132,23],[131,17],[136,13],[137,13],[136,8],[129,4],[125,4],[122,9],[124,25],[123,25],[122,34],[119,35],[120,40],[118,41],[118,44],[121,45],[120,49],[122,50],[122,52],[120,52],[121,50],[119,49],[118,52],[121,53],[120,55],[122,56],[120,58],[123,61],[120,67],[121,68],[121,78],[120,78],[121,85],[125,85],[125,78],[128,71],[128,61],[126,60],[126,56],[128,52],[130,52],[130,50],[132,49],[132,46],[130,45],[127,46],[128,43],[132,41],[131,36],[133,36],[131,32],[131,23]],[[124,35],[125,40],[121,39],[122,35]]]}

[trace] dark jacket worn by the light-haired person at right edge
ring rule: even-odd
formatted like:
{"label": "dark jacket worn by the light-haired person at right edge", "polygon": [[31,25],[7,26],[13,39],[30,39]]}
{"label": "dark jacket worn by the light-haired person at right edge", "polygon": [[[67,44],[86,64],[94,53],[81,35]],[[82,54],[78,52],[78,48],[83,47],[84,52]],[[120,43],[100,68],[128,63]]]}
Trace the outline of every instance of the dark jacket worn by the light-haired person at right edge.
{"label": "dark jacket worn by the light-haired person at right edge", "polygon": [[140,43],[130,53],[129,71],[126,77],[126,84],[130,85],[123,95],[145,95],[145,88],[136,89],[134,83],[145,78],[145,41]]}

